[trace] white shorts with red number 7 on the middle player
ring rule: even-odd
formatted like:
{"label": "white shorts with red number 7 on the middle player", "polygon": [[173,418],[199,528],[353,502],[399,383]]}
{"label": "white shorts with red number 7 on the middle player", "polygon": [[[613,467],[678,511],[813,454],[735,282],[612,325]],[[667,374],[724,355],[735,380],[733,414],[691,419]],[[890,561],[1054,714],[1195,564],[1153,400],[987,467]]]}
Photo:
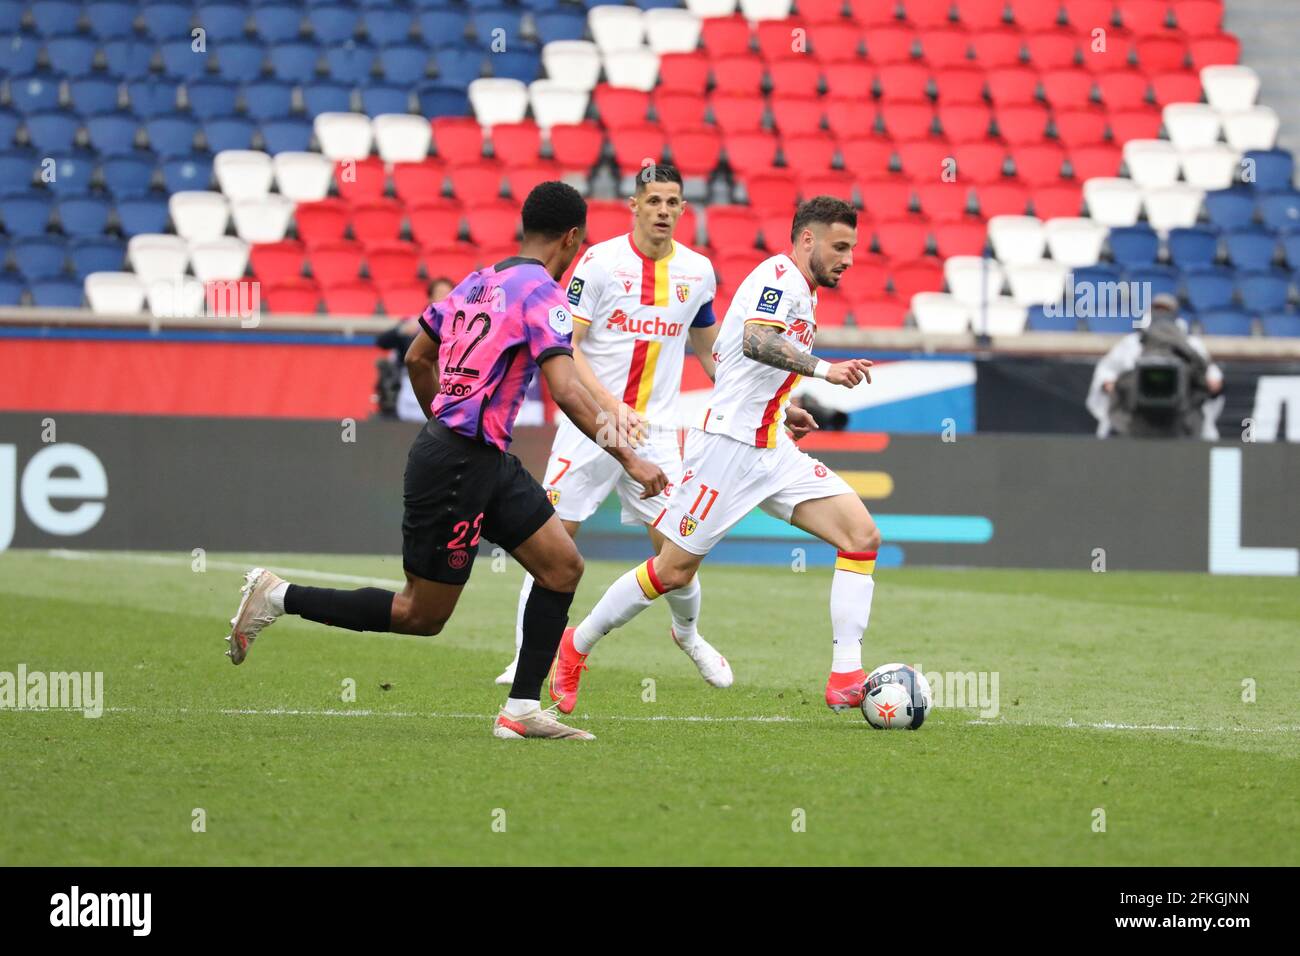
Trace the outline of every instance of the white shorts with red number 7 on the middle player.
{"label": "white shorts with red number 7 on the middle player", "polygon": [[681,480],[677,429],[651,425],[650,437],[637,454],[658,464],[668,476],[670,484],[663,494],[642,501],[641,485],[628,477],[623,466],[577,431],[572,421],[562,420],[546,462],[546,475],[542,476],[542,486],[555,506],[555,514],[564,522],[585,522],[616,488],[623,503],[623,523],[650,524],[667,507],[668,496]]}

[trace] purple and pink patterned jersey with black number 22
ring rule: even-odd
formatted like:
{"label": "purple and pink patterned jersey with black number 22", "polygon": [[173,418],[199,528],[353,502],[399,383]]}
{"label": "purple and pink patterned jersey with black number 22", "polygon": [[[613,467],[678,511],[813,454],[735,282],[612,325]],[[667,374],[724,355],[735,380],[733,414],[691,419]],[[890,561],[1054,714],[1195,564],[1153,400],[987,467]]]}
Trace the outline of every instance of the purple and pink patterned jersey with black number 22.
{"label": "purple and pink patterned jersey with black number 22", "polygon": [[420,325],[438,342],[433,416],[502,451],[537,367],[573,354],[564,290],[536,259],[512,256],[471,272],[424,311]]}

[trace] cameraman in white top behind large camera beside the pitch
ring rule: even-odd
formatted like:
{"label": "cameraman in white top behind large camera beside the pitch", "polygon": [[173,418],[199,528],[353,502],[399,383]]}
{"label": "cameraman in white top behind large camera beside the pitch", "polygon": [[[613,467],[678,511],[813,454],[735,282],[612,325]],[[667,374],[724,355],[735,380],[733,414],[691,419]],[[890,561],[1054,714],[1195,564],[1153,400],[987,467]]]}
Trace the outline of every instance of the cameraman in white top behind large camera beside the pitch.
{"label": "cameraman in white top behind large camera beside the pitch", "polygon": [[[1178,298],[1161,294],[1092,373],[1087,406],[1097,437],[1218,438],[1223,373],[1205,343],[1187,333]],[[1213,401],[1210,401],[1213,397]]]}

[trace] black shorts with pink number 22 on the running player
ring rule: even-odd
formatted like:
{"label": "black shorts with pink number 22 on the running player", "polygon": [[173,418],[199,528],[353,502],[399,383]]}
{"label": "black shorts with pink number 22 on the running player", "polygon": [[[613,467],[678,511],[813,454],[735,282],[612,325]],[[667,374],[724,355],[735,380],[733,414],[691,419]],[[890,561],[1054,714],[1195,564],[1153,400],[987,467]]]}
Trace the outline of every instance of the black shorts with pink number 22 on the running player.
{"label": "black shorts with pink number 22 on the running player", "polygon": [[515,455],[429,419],[407,457],[402,566],[443,584],[469,580],[480,538],[514,551],[555,514]]}

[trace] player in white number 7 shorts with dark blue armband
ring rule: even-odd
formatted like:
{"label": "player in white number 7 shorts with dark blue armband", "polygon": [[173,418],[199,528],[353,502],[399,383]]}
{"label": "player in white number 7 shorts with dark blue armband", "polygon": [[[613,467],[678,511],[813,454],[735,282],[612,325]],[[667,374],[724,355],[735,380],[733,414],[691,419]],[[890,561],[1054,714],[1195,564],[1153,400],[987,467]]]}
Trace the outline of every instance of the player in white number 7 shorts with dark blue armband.
{"label": "player in white number 7 shorts with dark blue armband", "polygon": [[[542,481],[572,536],[616,490],[623,523],[644,524],[655,551],[663,542],[650,523],[667,507],[672,483],[681,479],[677,403],[686,339],[712,378],[718,338],[714,267],[706,256],[673,239],[685,206],[681,174],[667,165],[647,166],[637,174],[636,193],[629,200],[632,232],[592,246],[569,282],[578,377],[610,420],[621,418],[640,427],[645,442],[638,454],[663,468],[670,481],[663,494],[642,499],[640,486],[624,477],[618,462],[562,419]],[[606,459],[615,467],[610,468]],[[519,594],[515,661],[497,678],[498,684],[514,679],[532,587],[532,575],[525,575]],[[698,579],[684,581],[667,600],[673,641],[706,682],[729,687],[731,665],[697,630]],[[563,702],[560,710],[569,713]]]}

